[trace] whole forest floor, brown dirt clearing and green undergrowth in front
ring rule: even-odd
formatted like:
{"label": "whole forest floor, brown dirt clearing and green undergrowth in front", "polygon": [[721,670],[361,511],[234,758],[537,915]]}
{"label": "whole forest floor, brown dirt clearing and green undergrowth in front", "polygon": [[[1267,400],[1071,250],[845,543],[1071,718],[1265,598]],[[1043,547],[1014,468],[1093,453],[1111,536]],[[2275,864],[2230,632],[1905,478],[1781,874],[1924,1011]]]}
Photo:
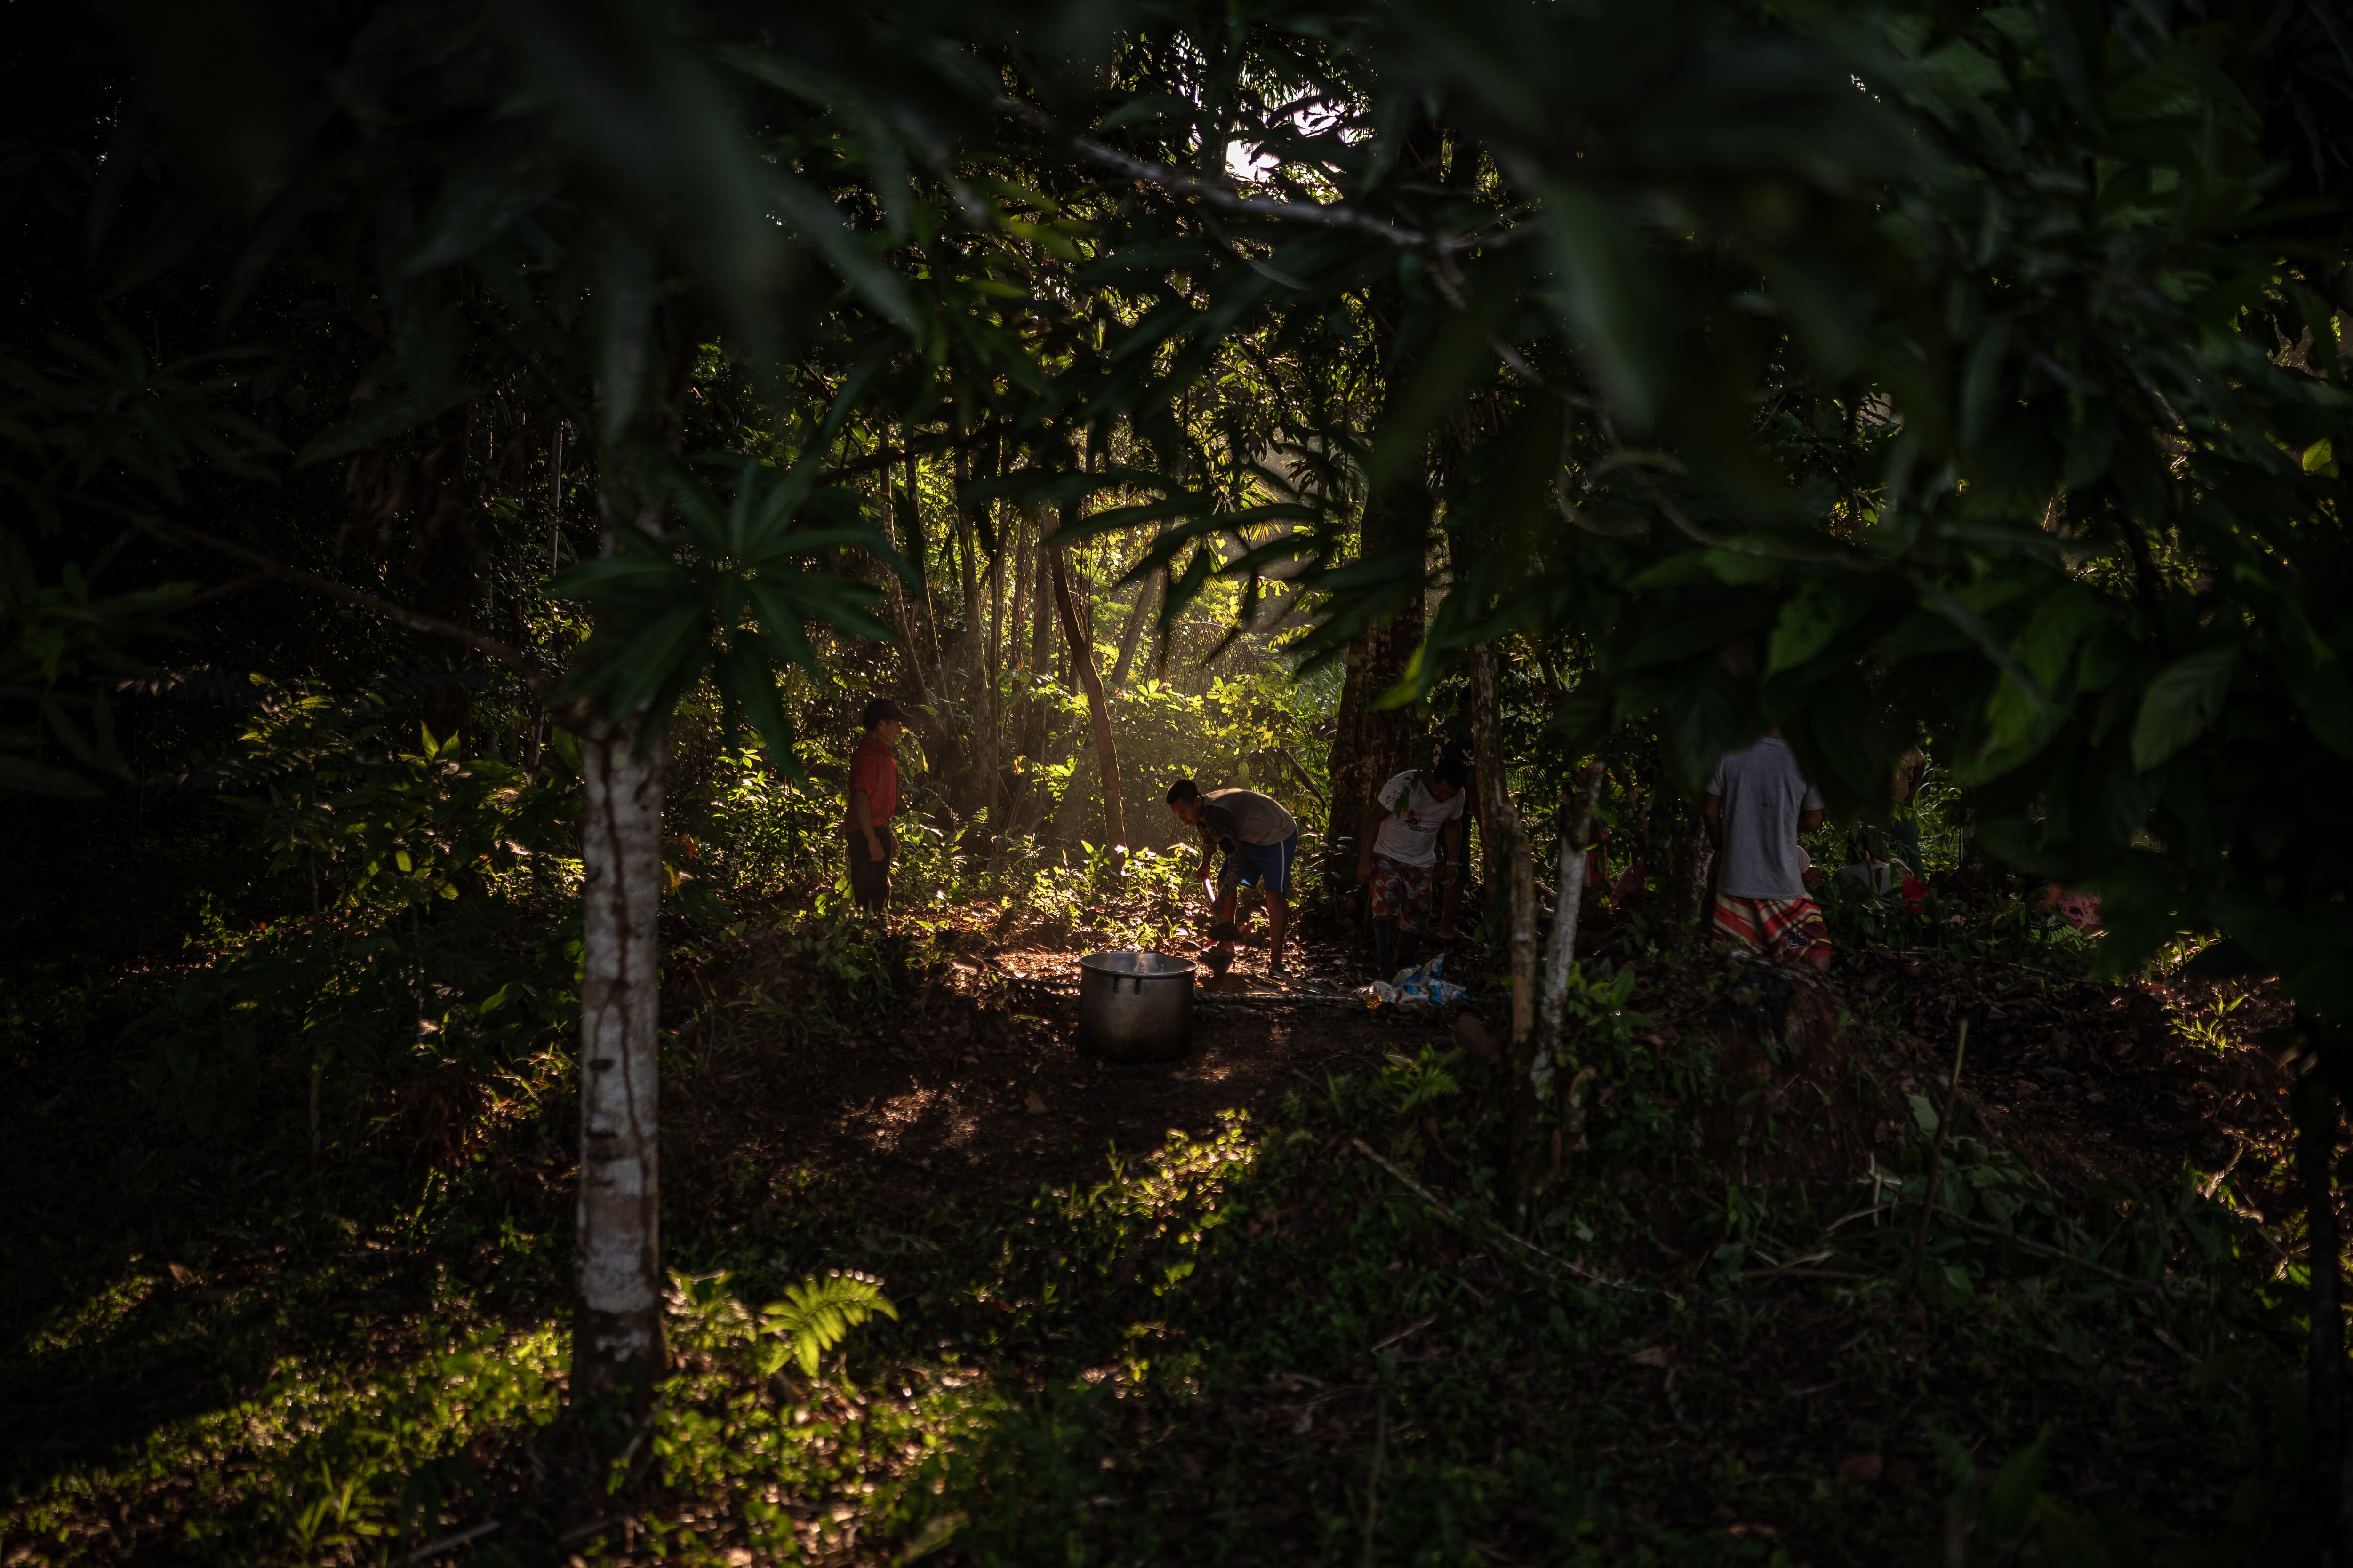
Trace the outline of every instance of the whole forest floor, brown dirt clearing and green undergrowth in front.
{"label": "whole forest floor, brown dirt clearing and green undergrowth in front", "polygon": [[[1344,933],[1311,997],[1205,997],[1179,1063],[1078,1056],[1075,954],[1146,914],[673,964],[678,1371],[626,1441],[562,1415],[560,1056],[388,1095],[365,1182],[141,1154],[136,1225],[75,1211],[132,1192],[122,1140],[54,1110],[115,1065],[28,1063],[0,1561],[1977,1563],[2040,1530],[2127,1563],[2294,1528],[2261,990],[1645,957],[1532,1248],[1482,1218],[1480,1032],[1341,1004]],[[744,1307],[833,1269],[896,1321],[807,1375]]]}

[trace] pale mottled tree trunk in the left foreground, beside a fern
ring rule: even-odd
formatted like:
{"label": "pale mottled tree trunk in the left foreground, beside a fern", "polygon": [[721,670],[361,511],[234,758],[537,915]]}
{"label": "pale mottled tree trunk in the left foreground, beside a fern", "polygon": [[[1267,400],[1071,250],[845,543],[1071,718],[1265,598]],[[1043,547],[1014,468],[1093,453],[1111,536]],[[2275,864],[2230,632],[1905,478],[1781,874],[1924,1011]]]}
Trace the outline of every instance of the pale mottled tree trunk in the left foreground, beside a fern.
{"label": "pale mottled tree trunk in the left foreground, beside a fern", "polygon": [[664,1363],[659,1006],[661,738],[581,738],[581,1178],[572,1399],[642,1399]]}

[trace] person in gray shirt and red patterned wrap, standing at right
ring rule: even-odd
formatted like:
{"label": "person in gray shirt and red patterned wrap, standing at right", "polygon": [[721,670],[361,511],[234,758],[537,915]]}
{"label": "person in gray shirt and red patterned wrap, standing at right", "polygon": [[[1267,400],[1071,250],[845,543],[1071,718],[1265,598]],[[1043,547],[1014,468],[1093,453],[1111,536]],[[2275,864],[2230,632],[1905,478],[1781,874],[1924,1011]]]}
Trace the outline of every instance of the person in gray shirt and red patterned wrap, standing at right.
{"label": "person in gray shirt and red patterned wrap, standing at right", "polygon": [[1831,966],[1831,929],[1805,891],[1800,832],[1821,827],[1821,792],[1779,729],[1727,752],[1701,806],[1715,839],[1718,936],[1781,961]]}

